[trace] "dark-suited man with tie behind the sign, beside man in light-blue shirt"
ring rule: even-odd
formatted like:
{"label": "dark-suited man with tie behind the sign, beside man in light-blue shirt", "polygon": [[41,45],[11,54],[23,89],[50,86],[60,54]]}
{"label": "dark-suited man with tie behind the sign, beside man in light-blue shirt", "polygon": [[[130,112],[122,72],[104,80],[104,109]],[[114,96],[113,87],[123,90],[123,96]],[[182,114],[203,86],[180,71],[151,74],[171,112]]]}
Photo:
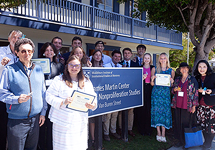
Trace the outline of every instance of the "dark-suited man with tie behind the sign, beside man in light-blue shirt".
{"label": "dark-suited man with tie behind the sign, beside man in light-blue shirt", "polygon": [[[120,63],[123,65],[123,67],[139,67],[139,64],[137,62],[134,62],[131,60],[132,57],[132,50],[130,48],[124,48],[122,50],[123,52],[123,58],[124,60],[121,61]],[[133,128],[133,122],[134,122],[134,112],[133,112],[133,108],[128,110],[128,134],[131,136],[135,136],[135,134],[132,132],[132,128]],[[121,133],[121,129],[122,129],[122,112],[119,112],[119,128],[120,128],[120,133]]]}

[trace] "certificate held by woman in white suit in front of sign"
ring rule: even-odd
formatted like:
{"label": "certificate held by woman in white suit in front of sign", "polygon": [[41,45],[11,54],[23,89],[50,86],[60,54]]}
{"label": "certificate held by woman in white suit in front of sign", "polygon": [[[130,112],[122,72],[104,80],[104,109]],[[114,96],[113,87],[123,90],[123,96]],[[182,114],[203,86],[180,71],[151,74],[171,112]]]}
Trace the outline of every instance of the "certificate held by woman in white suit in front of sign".
{"label": "certificate held by woman in white suit in front of sign", "polygon": [[86,102],[92,104],[95,96],[74,90],[74,92],[72,93],[72,98],[73,101],[66,106],[67,108],[87,112],[88,108],[85,106],[85,104]]}

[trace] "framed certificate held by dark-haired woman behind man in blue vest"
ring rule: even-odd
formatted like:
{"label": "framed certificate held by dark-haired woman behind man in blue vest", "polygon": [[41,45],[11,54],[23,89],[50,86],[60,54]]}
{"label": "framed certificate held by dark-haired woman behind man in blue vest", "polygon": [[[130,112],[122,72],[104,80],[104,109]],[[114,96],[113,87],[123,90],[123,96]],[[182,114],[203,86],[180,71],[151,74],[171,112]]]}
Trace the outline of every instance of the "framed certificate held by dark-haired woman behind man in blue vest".
{"label": "framed certificate held by dark-haired woman behind man in blue vest", "polygon": [[40,65],[45,75],[51,74],[50,58],[37,58],[37,59],[31,59],[31,61],[37,65]]}

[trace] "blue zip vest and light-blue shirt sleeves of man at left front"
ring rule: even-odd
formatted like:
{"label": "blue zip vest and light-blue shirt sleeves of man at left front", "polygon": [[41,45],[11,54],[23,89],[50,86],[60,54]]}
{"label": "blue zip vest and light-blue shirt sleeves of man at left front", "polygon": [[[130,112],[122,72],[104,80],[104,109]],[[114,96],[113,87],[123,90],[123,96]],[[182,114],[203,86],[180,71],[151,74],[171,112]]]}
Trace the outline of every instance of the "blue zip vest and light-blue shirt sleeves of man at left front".
{"label": "blue zip vest and light-blue shirt sleeves of man at left front", "polygon": [[[43,100],[45,86],[42,68],[35,64],[31,68],[30,74],[28,75],[24,65],[20,61],[6,67],[7,80],[4,81],[8,81],[8,87],[7,90],[1,89],[0,98],[1,101],[7,103],[8,118],[31,118],[39,114],[44,105],[46,105]],[[19,97],[21,94],[29,94],[31,92],[33,92],[33,95],[27,102],[19,104],[17,102],[10,103],[7,101],[7,98],[9,99],[11,95]]]}

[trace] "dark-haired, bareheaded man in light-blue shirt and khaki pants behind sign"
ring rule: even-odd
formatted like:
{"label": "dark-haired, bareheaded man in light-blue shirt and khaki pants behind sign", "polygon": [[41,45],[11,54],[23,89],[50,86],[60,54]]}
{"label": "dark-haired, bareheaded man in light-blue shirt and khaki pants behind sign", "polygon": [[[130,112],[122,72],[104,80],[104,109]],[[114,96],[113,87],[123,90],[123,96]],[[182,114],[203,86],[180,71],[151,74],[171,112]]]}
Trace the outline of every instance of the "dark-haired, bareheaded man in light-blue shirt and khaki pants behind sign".
{"label": "dark-haired, bareheaded man in light-blue shirt and khaki pants behind sign", "polygon": [[[114,50],[111,55],[112,55],[112,61],[108,64],[105,64],[104,67],[122,67],[122,65],[119,64],[122,57],[121,52],[119,50]],[[118,112],[113,112],[102,116],[104,120],[104,124],[103,124],[104,140],[106,141],[110,141],[109,128],[110,128],[111,134],[115,138],[120,139],[120,135],[116,133],[117,116],[118,116]]]}

